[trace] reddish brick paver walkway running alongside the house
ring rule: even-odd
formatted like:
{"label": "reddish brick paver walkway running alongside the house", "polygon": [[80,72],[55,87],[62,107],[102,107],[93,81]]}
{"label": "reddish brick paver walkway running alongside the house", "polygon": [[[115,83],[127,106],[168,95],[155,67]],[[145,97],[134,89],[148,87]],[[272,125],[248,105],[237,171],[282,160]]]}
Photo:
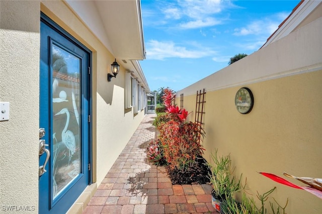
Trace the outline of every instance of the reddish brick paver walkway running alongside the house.
{"label": "reddish brick paver walkway running alongside the house", "polygon": [[147,161],[154,117],[145,116],[83,213],[218,213],[209,184],[173,185],[164,167]]}

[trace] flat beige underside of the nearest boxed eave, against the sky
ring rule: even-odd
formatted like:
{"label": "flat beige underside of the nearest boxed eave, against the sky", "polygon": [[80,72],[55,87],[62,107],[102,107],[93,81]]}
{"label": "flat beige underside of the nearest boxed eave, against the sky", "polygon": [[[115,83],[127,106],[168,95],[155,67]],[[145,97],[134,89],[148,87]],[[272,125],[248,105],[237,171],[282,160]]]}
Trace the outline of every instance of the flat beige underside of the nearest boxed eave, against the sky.
{"label": "flat beige underside of the nearest boxed eave, against the sky", "polygon": [[116,58],[145,58],[139,1],[95,1]]}

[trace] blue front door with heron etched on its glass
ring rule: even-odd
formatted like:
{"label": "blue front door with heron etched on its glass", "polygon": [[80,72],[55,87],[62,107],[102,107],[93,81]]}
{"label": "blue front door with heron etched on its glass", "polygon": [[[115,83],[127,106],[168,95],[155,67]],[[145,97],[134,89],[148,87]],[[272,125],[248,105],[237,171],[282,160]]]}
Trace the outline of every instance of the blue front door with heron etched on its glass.
{"label": "blue front door with heron etched on its glass", "polygon": [[91,182],[91,52],[43,14],[40,37],[39,213],[65,213]]}

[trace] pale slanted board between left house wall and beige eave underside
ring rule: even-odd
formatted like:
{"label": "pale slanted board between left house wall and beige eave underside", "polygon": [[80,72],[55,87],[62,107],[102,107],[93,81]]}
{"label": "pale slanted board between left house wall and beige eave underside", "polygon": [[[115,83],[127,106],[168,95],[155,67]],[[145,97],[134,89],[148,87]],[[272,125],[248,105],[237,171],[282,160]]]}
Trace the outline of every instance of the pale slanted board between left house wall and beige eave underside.
{"label": "pale slanted board between left house wall and beige eave underside", "polygon": [[[99,11],[93,1],[70,1],[65,0],[69,8],[78,16],[80,20],[93,32],[93,34],[104,44],[104,46],[113,54],[110,41],[106,36],[103,21]],[[113,54],[114,55],[114,54]]]}

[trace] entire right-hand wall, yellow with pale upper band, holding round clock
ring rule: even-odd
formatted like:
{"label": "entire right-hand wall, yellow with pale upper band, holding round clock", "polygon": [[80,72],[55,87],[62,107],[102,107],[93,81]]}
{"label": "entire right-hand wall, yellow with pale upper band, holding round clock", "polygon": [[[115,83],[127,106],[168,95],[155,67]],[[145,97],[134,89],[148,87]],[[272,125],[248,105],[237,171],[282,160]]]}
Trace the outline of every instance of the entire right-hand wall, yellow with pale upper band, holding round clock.
{"label": "entire right-hand wall, yellow with pale upper band, holding round clock", "polygon": [[[184,108],[193,112],[188,120],[194,121],[196,91],[206,88],[204,157],[209,161],[215,148],[219,155],[230,153],[235,175],[243,173],[253,197],[276,186],[272,196],[281,205],[288,198],[287,213],[320,213],[322,204],[318,197],[258,172],[322,177],[320,29],[321,18],[177,92],[177,97],[184,93]],[[235,108],[240,87],[254,94],[247,115]]]}

